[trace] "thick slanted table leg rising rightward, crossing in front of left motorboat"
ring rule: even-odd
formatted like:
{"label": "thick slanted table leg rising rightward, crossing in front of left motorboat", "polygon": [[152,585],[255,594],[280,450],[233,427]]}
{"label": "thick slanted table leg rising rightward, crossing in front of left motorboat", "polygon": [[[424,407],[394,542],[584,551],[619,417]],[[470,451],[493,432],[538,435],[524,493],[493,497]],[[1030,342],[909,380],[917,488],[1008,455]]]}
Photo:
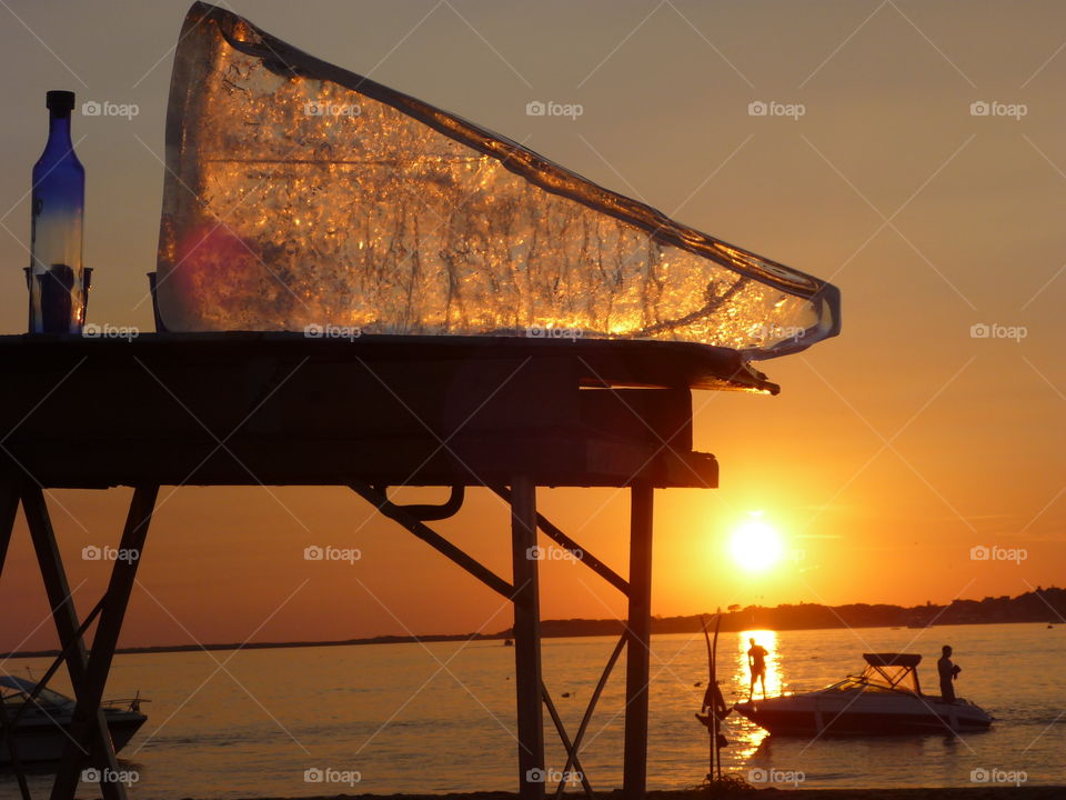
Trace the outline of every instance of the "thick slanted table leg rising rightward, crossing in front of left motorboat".
{"label": "thick slanted table leg rising rightward, crossing in front of left motorboat", "polygon": [[119,633],[122,630],[130,593],[133,591],[137,568],[144,552],[144,539],[148,536],[158,493],[158,486],[137,487],[133,490],[133,499],[130,501],[130,511],[119,544],[119,554],[125,558],[115,559],[111,568],[111,581],[103,596],[100,623],[92,638],[92,652],[86,670],[84,690],[78,694],[78,704],[70,726],[71,736],[52,787],[53,800],[73,797],[78,789],[82,761],[80,751],[87,746],[91,747],[93,726],[100,710],[100,701],[103,699],[103,689],[108,682],[114,649],[119,643]]}

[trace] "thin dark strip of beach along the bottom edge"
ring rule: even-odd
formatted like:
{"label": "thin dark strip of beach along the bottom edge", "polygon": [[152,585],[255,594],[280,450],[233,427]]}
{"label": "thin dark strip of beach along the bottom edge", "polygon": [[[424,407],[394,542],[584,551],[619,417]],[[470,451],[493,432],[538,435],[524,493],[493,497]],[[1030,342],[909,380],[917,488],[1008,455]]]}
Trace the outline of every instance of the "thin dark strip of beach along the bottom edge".
{"label": "thin dark strip of beach along the bottom edge", "polygon": [[[737,789],[728,793],[708,791],[652,791],[647,800],[708,800],[721,797],[743,797],[751,800],[1062,800],[1066,787],[963,787],[951,789]],[[470,792],[464,794],[328,794],[315,798],[247,798],[247,800],[517,800],[511,792]],[[566,792],[567,798],[584,797]],[[605,792],[604,800],[622,800],[622,792]]]}

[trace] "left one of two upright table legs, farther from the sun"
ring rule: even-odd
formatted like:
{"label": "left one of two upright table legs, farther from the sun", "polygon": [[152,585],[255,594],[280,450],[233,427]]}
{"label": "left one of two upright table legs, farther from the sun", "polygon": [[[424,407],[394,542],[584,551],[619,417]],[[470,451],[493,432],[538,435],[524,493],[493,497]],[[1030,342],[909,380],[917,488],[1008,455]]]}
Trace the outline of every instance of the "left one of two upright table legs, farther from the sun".
{"label": "left one of two upright table legs, farther from the sun", "polygon": [[536,487],[527,476],[522,476],[511,484],[514,671],[519,721],[519,794],[522,800],[544,798],[541,609],[535,548]]}

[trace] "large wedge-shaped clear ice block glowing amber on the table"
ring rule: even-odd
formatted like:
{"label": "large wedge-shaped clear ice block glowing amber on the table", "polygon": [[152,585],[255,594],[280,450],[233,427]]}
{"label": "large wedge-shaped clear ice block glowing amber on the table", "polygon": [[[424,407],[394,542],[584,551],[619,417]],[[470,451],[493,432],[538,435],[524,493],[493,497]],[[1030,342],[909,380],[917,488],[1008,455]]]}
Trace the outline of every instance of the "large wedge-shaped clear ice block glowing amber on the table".
{"label": "large wedge-shaped clear ice block glowing amber on the table", "polygon": [[566,328],[770,358],[839,330],[836,287],[201,2],[177,49],[167,168],[171,331]]}

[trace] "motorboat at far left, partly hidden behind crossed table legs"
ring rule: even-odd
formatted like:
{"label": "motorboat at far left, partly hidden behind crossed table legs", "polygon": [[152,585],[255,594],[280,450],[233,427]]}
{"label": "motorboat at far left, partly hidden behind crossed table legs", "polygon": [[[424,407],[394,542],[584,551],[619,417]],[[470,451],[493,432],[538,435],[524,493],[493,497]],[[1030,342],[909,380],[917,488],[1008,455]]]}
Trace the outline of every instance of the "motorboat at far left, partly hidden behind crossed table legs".
{"label": "motorboat at far left, partly hidden behind crossed table legs", "polygon": [[[74,716],[74,700],[38,687],[37,681],[0,676],[0,697],[9,723],[14,723],[14,749],[22,763],[58,761],[70,741],[70,723]],[[148,717],[141,713],[140,704],[148,702],[140,697],[132,700],[108,700],[101,703],[111,743],[118,752],[144,724]],[[11,763],[7,740],[0,736],[0,764]]]}

